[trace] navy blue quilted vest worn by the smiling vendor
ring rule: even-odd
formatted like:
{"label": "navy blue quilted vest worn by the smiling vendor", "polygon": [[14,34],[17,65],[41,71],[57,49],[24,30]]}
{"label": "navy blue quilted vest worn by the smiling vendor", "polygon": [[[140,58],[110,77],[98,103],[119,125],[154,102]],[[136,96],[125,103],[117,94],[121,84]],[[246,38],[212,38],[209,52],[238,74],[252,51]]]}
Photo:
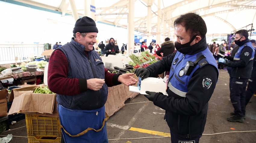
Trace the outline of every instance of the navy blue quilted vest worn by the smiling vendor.
{"label": "navy blue quilted vest worn by the smiling vendor", "polygon": [[[85,46],[79,44],[73,38],[71,39],[70,43],[57,49],[63,51],[67,57],[68,78],[86,78],[87,80],[91,78],[105,79],[104,65],[96,51],[89,51],[89,57],[87,57],[87,55],[84,53]],[[57,101],[58,104],[70,109],[94,110],[104,106],[107,101],[107,96],[108,86],[104,84],[98,91],[87,89],[86,92],[73,96],[57,94]]]}

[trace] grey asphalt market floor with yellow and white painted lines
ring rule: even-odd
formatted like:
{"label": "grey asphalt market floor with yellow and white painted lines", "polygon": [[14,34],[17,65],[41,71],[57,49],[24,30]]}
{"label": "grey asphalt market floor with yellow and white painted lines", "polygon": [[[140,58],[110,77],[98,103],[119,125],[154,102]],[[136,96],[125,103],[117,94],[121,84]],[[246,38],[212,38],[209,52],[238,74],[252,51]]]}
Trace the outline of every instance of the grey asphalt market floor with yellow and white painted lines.
{"label": "grey asphalt market floor with yellow and white painted lines", "polygon": [[[162,137],[164,133],[170,133],[170,129],[164,118],[165,111],[156,107],[152,102],[128,104],[148,101],[144,95],[138,95],[132,101],[128,99],[125,107],[122,107],[107,121],[108,139],[126,139],[109,141],[110,143],[158,143],[170,142],[170,137],[131,139],[142,137]],[[233,106],[229,98],[229,74],[226,70],[220,70],[219,81],[209,101],[207,122],[204,134],[223,133],[232,131],[256,130],[256,97],[251,98],[251,103],[246,107],[246,119],[244,122],[229,122],[229,112],[233,111]],[[26,125],[25,119],[15,125],[10,125],[11,129]],[[131,128],[132,127],[132,128]],[[232,130],[230,128],[234,128]],[[138,129],[134,131],[131,129]],[[145,130],[143,130],[145,129]],[[146,133],[142,133],[142,132]],[[0,135],[12,134],[13,136],[27,136],[26,127],[0,133]],[[160,136],[161,135],[161,136]],[[255,142],[256,132],[225,133],[218,135],[203,135],[201,143],[252,143]],[[27,143],[27,138],[14,137],[10,143]]]}

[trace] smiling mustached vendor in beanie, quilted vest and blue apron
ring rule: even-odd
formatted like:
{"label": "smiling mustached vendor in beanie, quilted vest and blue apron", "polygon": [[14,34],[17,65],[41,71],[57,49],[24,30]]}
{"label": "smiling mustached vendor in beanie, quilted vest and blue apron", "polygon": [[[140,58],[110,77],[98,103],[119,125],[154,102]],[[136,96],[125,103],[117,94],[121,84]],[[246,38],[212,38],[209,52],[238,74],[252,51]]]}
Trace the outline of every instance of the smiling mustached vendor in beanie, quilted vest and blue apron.
{"label": "smiling mustached vendor in beanie, quilted vest and blue apron", "polygon": [[133,73],[112,74],[105,69],[93,47],[97,33],[93,19],[78,19],[71,42],[57,48],[49,59],[48,87],[57,94],[61,142],[108,142],[104,106],[108,87],[137,82],[130,77]]}

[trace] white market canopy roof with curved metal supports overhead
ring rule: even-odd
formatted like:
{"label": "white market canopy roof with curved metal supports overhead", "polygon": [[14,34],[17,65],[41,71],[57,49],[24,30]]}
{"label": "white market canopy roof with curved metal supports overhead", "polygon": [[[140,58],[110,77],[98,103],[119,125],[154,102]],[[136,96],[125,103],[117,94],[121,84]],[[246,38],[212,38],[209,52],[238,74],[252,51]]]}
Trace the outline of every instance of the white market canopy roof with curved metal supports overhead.
{"label": "white market canopy roof with curved metal supports overhead", "polygon": [[[13,4],[31,7],[39,10],[59,13],[63,16],[72,16],[70,2],[74,2],[77,13],[80,17],[85,14],[84,7],[86,0],[1,0]],[[89,1],[89,2],[88,2]],[[206,22],[207,34],[229,34],[246,25],[255,22],[256,2],[255,0],[133,0],[135,31],[147,32],[147,5],[151,3],[151,31],[156,33],[158,16],[161,22],[166,21],[167,30],[169,27],[173,32],[173,22],[181,14],[197,12]],[[94,4],[92,4],[94,2]],[[92,4],[96,7],[95,21],[127,28],[128,0],[87,0],[86,7]],[[158,13],[161,8],[161,14]],[[88,11],[88,10],[86,10]],[[119,13],[117,15],[117,13]],[[123,15],[120,13],[124,13]],[[112,14],[112,15],[102,15]],[[94,15],[94,14],[93,14]],[[251,25],[246,27],[251,29]],[[163,28],[161,30],[163,32]]]}

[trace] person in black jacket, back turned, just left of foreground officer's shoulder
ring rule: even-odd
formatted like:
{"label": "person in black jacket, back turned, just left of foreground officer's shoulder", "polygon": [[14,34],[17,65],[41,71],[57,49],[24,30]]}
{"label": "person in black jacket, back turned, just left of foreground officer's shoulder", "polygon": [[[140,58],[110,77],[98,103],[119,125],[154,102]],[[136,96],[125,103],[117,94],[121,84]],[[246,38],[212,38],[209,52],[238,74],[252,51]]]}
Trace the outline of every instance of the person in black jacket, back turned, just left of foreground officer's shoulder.
{"label": "person in black jacket, back turned, just left of foreground officer's shoulder", "polygon": [[156,51],[156,54],[158,56],[162,56],[161,53],[163,52],[163,57],[166,57],[170,54],[173,54],[174,51],[174,45],[173,45],[173,41],[170,41],[170,38],[165,38],[164,42],[161,44],[161,48],[159,50]]}

